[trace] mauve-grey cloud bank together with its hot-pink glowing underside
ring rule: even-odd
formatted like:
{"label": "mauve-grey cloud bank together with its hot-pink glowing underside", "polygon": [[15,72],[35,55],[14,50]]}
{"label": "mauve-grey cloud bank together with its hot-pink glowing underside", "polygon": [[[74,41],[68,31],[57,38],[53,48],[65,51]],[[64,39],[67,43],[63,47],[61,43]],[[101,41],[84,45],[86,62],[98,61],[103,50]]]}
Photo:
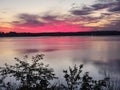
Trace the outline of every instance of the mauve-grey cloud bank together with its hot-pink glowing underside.
{"label": "mauve-grey cloud bank together with its hot-pink glowing underside", "polygon": [[69,22],[69,20],[61,17],[59,15],[49,14],[43,16],[19,14],[17,16],[18,20],[12,23],[14,30],[17,30],[17,32],[79,32],[92,29],[80,24],[74,24],[73,21]]}

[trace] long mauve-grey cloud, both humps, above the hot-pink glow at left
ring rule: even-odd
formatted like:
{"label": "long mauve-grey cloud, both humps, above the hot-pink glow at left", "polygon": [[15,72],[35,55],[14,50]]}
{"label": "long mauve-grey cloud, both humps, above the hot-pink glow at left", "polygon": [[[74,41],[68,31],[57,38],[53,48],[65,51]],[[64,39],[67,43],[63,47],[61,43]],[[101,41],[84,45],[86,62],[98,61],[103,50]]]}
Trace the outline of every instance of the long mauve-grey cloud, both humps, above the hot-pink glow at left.
{"label": "long mauve-grey cloud, both humps, above the hot-pink glow at left", "polygon": [[57,19],[58,16],[59,15],[50,15],[48,13],[44,14],[43,16],[33,14],[19,14],[17,15],[18,20],[13,21],[12,23],[19,26],[44,26],[47,24],[55,24],[56,22],[61,22],[62,20]]}

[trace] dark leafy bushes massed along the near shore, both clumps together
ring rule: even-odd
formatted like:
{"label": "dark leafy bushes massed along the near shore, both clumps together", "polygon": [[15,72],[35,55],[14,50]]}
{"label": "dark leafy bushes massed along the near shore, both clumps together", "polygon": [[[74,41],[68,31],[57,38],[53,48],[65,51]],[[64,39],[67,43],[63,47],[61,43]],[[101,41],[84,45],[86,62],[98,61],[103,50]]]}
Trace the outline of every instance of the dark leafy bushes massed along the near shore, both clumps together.
{"label": "dark leafy bushes massed along the near shore, both clumps together", "polygon": [[[0,90],[113,90],[109,86],[109,78],[94,80],[88,72],[83,73],[83,65],[76,65],[69,70],[63,70],[65,83],[54,83],[59,79],[55,76],[54,70],[45,65],[43,54],[29,57],[24,56],[23,60],[15,58],[15,65],[5,64],[0,67]],[[6,81],[6,78],[14,78],[19,85]]]}

